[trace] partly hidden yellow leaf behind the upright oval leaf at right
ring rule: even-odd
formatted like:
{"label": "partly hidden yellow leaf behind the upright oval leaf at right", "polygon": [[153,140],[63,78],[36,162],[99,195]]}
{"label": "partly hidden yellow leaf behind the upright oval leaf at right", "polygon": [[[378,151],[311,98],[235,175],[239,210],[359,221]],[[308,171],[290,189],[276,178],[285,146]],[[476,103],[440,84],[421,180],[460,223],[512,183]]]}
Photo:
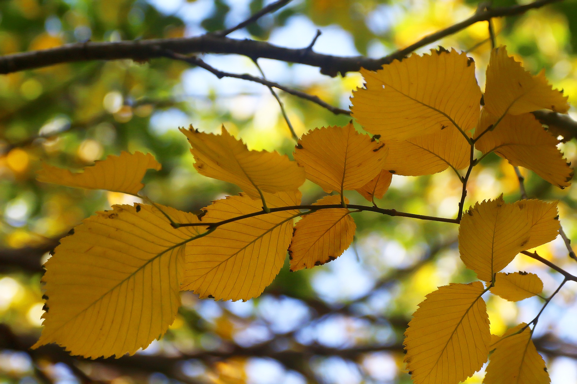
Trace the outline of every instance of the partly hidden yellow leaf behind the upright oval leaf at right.
{"label": "partly hidden yellow leaf behind the upright oval leaf at right", "polygon": [[529,242],[523,246],[531,249],[541,244],[553,241],[559,234],[559,214],[557,213],[557,201],[543,201],[537,199],[519,200],[515,205],[527,214],[529,230]]}

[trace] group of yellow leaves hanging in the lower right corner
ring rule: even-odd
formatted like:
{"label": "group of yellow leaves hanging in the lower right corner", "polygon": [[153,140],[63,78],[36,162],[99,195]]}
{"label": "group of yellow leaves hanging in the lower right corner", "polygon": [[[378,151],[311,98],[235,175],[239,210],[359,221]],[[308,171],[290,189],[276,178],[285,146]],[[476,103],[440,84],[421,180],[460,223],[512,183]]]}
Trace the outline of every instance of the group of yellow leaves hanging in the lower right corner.
{"label": "group of yellow leaves hanging in the lower right corner", "polygon": [[[407,370],[413,374],[415,383],[458,383],[482,367],[488,352],[494,348],[481,296],[489,289],[509,301],[541,294],[543,283],[537,275],[498,272],[520,251],[552,241],[558,233],[556,203],[520,200],[507,204],[501,196],[477,203],[464,214],[459,228],[460,257],[487,287],[481,282],[451,284],[427,295],[419,304],[404,342]],[[529,334],[529,330],[526,333]],[[530,336],[529,340],[526,337],[512,339],[513,336],[509,340],[506,336],[501,339],[507,342],[496,343],[499,354],[495,352],[491,356],[484,381],[487,384],[507,382],[501,380],[501,371],[505,368],[509,379],[518,377],[515,375],[519,372],[527,374],[519,365],[527,364],[523,359],[519,362],[516,359],[516,366],[510,360],[509,363],[493,363],[501,354],[532,353],[524,347],[519,350],[519,343],[529,343]],[[535,354],[541,359],[536,350]]]}

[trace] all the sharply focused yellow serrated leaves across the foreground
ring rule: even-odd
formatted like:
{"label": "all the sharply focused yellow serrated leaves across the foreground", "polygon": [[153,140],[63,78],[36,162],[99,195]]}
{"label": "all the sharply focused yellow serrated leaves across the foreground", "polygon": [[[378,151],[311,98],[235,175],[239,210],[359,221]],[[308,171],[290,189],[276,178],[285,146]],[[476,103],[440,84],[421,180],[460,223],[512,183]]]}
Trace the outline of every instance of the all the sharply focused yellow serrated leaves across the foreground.
{"label": "all the sharply focused yellow serrated leaves across the foreground", "polygon": [[[46,264],[49,310],[36,347],[54,342],[91,358],[134,353],[174,321],[179,290],[248,300],[272,282],[287,249],[291,271],[339,257],[355,234],[354,206],[347,206],[343,191],[356,190],[374,203],[393,173],[418,176],[449,167],[459,173],[472,166],[474,148],[529,168],[560,188],[569,185],[572,170],[556,138],[529,113],[567,112],[567,98],[543,74],[524,71],[504,47],[492,52],[484,96],[473,60],[455,50],[433,50],[361,72],[366,87],[354,93],[352,112],[373,136],[359,134],[352,121],[311,130],[298,140],[294,161],[249,150],[224,127],[220,135],[181,128],[198,173],[234,183],[243,193],[213,201],[201,216],[135,204],[85,219]],[[38,178],[137,195],[147,169],[160,169],[151,155],[123,152],[82,173],[44,165]],[[298,188],[305,178],[338,194],[304,211]],[[294,226],[299,216],[304,217]],[[440,287],[419,305],[404,342],[415,383],[463,381],[490,351],[485,383],[527,375],[548,382],[546,372],[535,371],[544,363],[525,325],[492,339],[482,295],[491,290],[519,301],[541,293],[542,282],[533,273],[500,271],[520,251],[552,241],[557,218],[556,203],[507,204],[502,196],[464,214],[460,257],[485,284]]]}

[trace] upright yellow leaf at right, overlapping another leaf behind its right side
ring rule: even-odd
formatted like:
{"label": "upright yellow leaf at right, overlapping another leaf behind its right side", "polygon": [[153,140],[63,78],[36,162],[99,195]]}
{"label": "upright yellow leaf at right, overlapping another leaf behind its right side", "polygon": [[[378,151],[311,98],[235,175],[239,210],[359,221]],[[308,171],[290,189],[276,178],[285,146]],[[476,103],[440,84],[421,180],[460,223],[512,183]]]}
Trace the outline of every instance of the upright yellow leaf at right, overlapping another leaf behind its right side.
{"label": "upright yellow leaf at right, overlapping another leaf behind its right side", "polygon": [[490,282],[529,241],[527,214],[515,204],[498,199],[475,204],[459,226],[459,253],[467,268]]}

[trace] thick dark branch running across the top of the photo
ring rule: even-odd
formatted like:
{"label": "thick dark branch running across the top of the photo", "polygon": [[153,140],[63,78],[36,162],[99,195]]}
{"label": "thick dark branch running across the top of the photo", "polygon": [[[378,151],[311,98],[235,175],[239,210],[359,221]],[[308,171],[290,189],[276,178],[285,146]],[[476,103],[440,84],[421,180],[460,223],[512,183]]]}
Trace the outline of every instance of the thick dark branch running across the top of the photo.
{"label": "thick dark branch running across the top of the photo", "polygon": [[12,73],[28,69],[41,68],[60,63],[70,63],[87,60],[118,60],[133,59],[145,61],[166,56],[166,50],[178,54],[238,54],[250,58],[268,58],[290,63],[307,64],[319,67],[321,73],[336,76],[350,71],[358,71],[361,67],[377,70],[383,64],[395,59],[402,59],[417,48],[434,43],[445,36],[459,32],[467,26],[479,21],[488,21],[494,17],[515,16],[560,0],[538,0],[525,5],[499,7],[489,10],[478,10],[473,16],[462,22],[426,36],[409,47],[396,51],[380,59],[370,59],[365,56],[340,57],[317,54],[308,48],[299,50],[278,47],[265,41],[237,40],[206,34],[198,37],[179,39],[151,39],[115,42],[88,42],[66,44],[49,50],[21,52],[13,55],[0,56],[0,74]]}

